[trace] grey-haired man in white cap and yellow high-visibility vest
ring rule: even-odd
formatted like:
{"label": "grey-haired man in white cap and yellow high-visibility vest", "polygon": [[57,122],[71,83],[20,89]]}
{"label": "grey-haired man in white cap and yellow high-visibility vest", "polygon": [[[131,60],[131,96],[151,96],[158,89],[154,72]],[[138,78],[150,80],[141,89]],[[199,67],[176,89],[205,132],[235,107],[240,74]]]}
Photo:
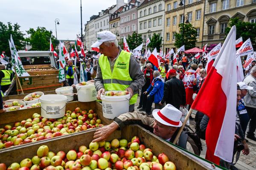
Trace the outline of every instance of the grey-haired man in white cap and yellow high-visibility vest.
{"label": "grey-haired man in white cap and yellow high-visibility vest", "polygon": [[97,33],[97,42],[91,47],[99,47],[102,54],[97,64],[95,87],[97,99],[105,91],[128,91],[131,94],[129,111],[134,111],[138,91],[145,83],[145,77],[133,54],[118,46],[116,35],[111,31]]}

